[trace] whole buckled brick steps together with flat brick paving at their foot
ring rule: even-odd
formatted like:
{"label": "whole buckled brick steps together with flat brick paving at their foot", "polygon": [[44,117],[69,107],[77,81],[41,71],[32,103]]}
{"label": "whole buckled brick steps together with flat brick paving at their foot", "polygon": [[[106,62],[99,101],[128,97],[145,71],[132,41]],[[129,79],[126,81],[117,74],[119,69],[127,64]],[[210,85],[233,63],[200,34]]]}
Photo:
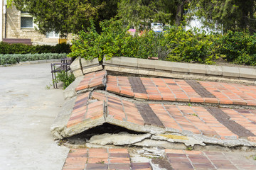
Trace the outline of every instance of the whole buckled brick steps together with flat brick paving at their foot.
{"label": "whole buckled brick steps together with flat brick paving at their foot", "polygon": [[70,86],[53,136],[94,134],[70,145],[63,169],[256,169],[256,86],[104,69]]}

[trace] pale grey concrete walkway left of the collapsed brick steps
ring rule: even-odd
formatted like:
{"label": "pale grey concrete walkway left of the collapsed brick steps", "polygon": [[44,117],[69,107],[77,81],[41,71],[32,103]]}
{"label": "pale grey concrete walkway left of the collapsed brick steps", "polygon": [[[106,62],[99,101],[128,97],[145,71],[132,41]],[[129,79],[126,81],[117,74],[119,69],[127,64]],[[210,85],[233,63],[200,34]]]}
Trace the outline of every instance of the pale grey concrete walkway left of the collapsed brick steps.
{"label": "pale grey concrete walkway left of the collapsed brick steps", "polygon": [[0,67],[0,169],[62,169],[68,148],[50,125],[63,106],[63,90],[46,89],[50,64]]}

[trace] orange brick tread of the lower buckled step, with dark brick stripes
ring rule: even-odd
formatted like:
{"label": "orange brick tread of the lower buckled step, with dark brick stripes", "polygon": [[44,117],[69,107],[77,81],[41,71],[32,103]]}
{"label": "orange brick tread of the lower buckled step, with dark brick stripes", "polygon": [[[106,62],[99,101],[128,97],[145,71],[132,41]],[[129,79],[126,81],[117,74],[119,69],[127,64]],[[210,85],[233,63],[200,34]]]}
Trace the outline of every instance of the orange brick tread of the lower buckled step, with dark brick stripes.
{"label": "orange brick tread of the lower buckled step, with dark brick stripes", "polygon": [[[195,134],[217,137],[223,140],[235,140],[238,137],[255,137],[255,110],[218,109],[213,114],[203,106],[178,106],[159,103],[132,103],[119,97],[107,96],[94,91],[88,102],[89,92],[78,96],[67,127],[84,123],[87,120],[113,118],[131,125],[151,125],[171,128],[178,132],[190,131]],[[105,114],[105,106],[107,113]],[[213,111],[216,111],[214,108]],[[224,115],[226,117],[224,117]],[[225,119],[227,123],[223,121]]]}

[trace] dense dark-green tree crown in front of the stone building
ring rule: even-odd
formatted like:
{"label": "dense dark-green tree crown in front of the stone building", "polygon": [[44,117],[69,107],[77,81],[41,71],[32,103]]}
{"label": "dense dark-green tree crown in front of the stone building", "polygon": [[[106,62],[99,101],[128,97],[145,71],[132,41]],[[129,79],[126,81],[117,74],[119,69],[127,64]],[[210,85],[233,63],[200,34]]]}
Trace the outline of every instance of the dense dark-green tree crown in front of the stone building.
{"label": "dense dark-green tree crown in front of the stone building", "polygon": [[[10,1],[10,0],[9,0]],[[41,33],[78,33],[90,26],[90,19],[102,21],[115,16],[117,1],[111,0],[12,0],[21,11],[35,17]],[[110,10],[111,8],[111,10]]]}

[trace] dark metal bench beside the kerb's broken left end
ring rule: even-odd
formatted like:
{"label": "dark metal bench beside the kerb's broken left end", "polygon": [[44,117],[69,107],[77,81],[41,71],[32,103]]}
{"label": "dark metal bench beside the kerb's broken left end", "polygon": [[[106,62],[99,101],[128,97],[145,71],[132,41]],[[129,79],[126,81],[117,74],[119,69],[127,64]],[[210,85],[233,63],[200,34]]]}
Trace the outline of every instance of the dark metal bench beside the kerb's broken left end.
{"label": "dark metal bench beside the kerb's broken left end", "polygon": [[51,74],[53,78],[53,88],[58,88],[56,81],[57,72],[68,72],[70,70],[70,64],[73,62],[72,58],[63,58],[59,63],[51,63]]}

